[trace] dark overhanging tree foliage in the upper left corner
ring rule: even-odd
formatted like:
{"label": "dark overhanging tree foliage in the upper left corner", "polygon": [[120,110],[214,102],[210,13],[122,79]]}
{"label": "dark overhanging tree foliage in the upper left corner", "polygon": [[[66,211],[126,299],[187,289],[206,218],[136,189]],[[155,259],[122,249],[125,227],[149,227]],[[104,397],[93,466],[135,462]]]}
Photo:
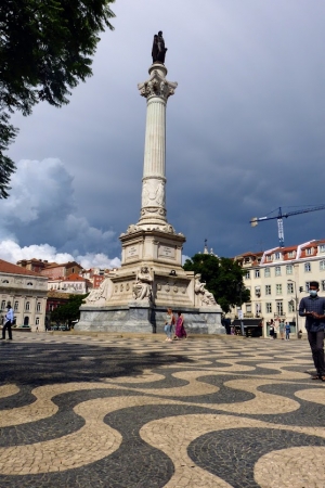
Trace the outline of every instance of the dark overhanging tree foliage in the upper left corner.
{"label": "dark overhanging tree foliage in the upper left corner", "polygon": [[[0,4],[0,198],[15,166],[3,151],[16,129],[10,113],[29,115],[47,101],[68,103],[69,89],[92,75],[99,34],[114,17],[115,0],[5,0]],[[4,179],[2,178],[4,175]]]}

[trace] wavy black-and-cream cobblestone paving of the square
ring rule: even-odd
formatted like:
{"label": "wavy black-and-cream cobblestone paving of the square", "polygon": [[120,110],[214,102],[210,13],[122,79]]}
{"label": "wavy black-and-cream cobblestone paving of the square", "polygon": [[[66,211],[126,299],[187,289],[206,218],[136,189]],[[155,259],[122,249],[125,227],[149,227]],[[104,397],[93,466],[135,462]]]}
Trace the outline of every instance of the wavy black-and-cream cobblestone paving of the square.
{"label": "wavy black-and-cream cobblestone paving of the square", "polygon": [[14,332],[0,355],[0,487],[325,487],[307,341]]}

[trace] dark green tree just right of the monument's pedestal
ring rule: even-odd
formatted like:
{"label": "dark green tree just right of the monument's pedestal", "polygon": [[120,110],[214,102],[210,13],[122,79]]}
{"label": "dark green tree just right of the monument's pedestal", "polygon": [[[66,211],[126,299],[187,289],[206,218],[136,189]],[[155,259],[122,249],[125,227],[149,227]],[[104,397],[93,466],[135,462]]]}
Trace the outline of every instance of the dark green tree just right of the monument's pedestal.
{"label": "dark green tree just right of the monument's pedestal", "polygon": [[218,258],[210,254],[195,254],[184,264],[185,271],[202,274],[202,281],[211,292],[222,310],[227,313],[232,307],[249,301],[250,293],[243,283],[245,271],[230,258]]}

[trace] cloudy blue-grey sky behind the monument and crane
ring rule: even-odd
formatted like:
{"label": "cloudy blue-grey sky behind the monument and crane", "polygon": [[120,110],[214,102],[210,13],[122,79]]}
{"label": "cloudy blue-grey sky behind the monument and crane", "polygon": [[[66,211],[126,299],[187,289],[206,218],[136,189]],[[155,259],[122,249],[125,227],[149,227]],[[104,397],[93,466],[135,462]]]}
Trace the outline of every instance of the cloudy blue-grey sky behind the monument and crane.
{"label": "cloudy blue-grey sky behind the monument and crane", "polygon": [[[15,115],[11,197],[0,205],[0,258],[70,256],[112,265],[139,220],[154,34],[164,31],[167,217],[192,256],[275,247],[276,220],[325,204],[324,0],[116,0],[93,77],[69,105]],[[325,210],[285,220],[285,244],[325,239]],[[15,243],[15,244],[14,244]],[[57,255],[58,254],[58,255]],[[113,265],[118,264],[118,259]],[[113,266],[112,265],[112,266]]]}

